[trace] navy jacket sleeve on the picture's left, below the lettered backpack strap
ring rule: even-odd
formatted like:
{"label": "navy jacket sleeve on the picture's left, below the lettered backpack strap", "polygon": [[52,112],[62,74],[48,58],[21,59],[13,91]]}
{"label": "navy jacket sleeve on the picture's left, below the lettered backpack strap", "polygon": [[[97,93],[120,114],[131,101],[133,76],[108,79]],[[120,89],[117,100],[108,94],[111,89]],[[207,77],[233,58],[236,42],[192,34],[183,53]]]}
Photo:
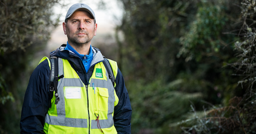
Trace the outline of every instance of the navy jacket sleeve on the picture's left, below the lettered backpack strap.
{"label": "navy jacket sleeve on the picture's left, below the lettered backpack strap", "polygon": [[49,76],[50,67],[45,60],[30,77],[21,112],[21,134],[44,134],[44,118],[49,101]]}

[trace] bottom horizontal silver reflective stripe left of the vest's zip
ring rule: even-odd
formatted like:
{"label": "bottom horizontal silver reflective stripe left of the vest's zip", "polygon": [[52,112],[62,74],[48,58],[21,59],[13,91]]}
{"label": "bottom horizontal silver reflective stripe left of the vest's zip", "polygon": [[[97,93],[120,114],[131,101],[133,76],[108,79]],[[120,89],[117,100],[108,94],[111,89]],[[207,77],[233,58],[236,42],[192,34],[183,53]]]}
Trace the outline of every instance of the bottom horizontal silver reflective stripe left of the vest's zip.
{"label": "bottom horizontal silver reflective stripe left of the vest's zip", "polygon": [[46,114],[45,118],[47,121],[47,122],[46,121],[45,122],[47,124],[51,124],[51,125],[70,126],[70,127],[76,127],[76,128],[87,128],[87,119],[49,116],[48,114]]}

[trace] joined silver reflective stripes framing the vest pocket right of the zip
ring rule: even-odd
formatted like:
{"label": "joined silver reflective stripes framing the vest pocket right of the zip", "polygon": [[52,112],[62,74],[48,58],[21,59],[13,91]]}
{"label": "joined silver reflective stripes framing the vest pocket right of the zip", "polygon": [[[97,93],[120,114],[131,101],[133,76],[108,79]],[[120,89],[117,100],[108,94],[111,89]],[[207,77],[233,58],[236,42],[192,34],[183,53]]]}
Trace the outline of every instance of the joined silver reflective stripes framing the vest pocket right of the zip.
{"label": "joined silver reflective stripes framing the vest pocket right of the zip", "polygon": [[[106,76],[108,76],[107,71],[106,71]],[[110,128],[114,125],[112,113],[114,112],[114,102],[115,102],[114,90],[115,89],[113,87],[113,84],[109,78],[107,79],[107,81],[99,80],[99,79],[91,79],[91,83],[94,83],[95,87],[108,88],[108,119],[100,120],[100,117],[99,117],[99,123],[100,123],[100,128]],[[92,85],[90,85],[90,87],[92,87]],[[98,124],[96,120],[92,120],[91,128],[92,129],[98,128]]]}

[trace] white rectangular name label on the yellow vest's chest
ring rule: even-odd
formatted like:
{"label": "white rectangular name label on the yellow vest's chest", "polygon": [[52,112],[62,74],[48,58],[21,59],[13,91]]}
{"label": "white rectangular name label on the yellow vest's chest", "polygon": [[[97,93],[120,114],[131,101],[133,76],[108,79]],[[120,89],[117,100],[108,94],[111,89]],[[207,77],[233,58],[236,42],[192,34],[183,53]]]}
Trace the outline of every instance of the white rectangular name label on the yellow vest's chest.
{"label": "white rectangular name label on the yellow vest's chest", "polygon": [[80,87],[65,87],[66,99],[81,99]]}

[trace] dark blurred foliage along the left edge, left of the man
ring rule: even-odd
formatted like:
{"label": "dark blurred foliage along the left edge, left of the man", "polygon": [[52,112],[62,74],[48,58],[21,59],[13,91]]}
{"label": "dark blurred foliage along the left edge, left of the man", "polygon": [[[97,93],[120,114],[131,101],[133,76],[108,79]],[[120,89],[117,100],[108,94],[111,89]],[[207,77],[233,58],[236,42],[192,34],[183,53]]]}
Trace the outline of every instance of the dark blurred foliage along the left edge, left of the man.
{"label": "dark blurred foliage along the left edge, left of the man", "polygon": [[52,6],[60,0],[0,0],[0,133],[19,133],[31,61],[58,25]]}

